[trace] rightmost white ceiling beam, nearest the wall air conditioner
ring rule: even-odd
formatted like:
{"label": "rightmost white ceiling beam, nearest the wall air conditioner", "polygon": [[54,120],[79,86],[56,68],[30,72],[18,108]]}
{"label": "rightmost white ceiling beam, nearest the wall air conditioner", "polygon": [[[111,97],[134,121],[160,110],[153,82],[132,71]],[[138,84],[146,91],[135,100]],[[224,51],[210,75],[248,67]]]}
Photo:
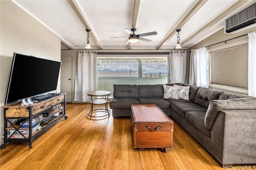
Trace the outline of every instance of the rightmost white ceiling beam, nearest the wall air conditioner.
{"label": "rightmost white ceiling beam, nearest the wall air conditioner", "polygon": [[[204,27],[202,27],[200,30],[198,30],[197,32],[195,32],[192,36],[190,36],[189,38],[186,38],[186,40],[182,41],[182,45],[189,43],[190,41],[193,41],[193,39],[200,33],[204,32],[205,30],[207,30],[208,28],[214,26],[214,24],[218,23],[219,21],[223,20],[224,18],[226,18],[226,16],[228,16],[230,14],[230,11],[235,11],[237,8],[239,8],[240,6],[246,4],[248,2],[248,0],[239,0],[238,2],[236,2],[234,5],[230,6],[230,8],[228,8],[227,10],[225,10],[224,12],[222,12],[220,15],[218,15],[216,18],[214,18],[211,22],[209,22],[208,24],[206,24]],[[224,27],[224,24],[223,24]],[[218,30],[216,30],[218,31]]]}

